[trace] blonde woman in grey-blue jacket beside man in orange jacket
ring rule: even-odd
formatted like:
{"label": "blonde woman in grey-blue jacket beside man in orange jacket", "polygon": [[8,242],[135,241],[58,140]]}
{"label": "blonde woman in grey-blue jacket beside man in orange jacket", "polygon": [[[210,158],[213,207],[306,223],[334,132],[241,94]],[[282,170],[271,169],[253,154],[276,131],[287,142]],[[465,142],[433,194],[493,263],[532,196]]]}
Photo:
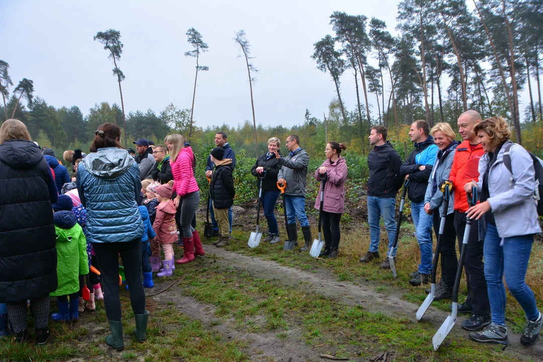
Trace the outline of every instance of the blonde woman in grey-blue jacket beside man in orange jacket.
{"label": "blonde woman in grey-blue jacket beside man in orange jacket", "polygon": [[[428,186],[426,187],[426,195],[424,196],[424,211],[428,215],[433,214],[434,231],[439,232],[439,224],[441,215],[443,214],[443,182],[449,180],[451,173],[452,161],[458,142],[454,140],[456,135],[449,123],[438,123],[433,126],[430,135],[434,137],[434,142],[438,146],[438,155],[435,158],[434,168]],[[452,193],[452,187],[450,192]],[[442,300],[452,296],[452,287],[454,285],[454,277],[456,276],[456,268],[458,259],[456,257],[456,231],[454,231],[454,199],[449,198],[449,207],[445,213],[445,228],[441,237],[441,281],[435,290],[435,300]],[[429,289],[428,289],[429,290]]]}

